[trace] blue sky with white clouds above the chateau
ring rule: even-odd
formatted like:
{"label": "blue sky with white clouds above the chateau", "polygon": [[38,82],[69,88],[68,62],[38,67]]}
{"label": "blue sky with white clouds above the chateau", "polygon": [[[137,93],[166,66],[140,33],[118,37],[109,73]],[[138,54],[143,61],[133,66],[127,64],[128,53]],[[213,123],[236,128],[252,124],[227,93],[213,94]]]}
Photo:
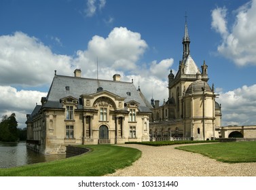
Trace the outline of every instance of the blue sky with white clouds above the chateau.
{"label": "blue sky with white clouds above the chateau", "polygon": [[185,12],[191,56],[208,65],[223,126],[256,124],[256,1],[0,1],[0,115],[26,113],[46,96],[54,70],[100,79],[120,73],[150,100],[168,98],[182,58]]}

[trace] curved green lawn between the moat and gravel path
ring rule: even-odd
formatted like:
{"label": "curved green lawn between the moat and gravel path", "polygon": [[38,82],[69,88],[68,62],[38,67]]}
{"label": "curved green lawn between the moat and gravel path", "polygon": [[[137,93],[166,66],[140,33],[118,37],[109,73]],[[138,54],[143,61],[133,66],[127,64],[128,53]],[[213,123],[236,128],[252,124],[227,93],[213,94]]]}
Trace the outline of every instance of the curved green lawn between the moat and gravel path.
{"label": "curved green lawn between the moat and gravel path", "polygon": [[141,151],[128,147],[113,145],[85,147],[92,151],[57,161],[0,169],[0,176],[103,176],[130,166],[141,157]]}

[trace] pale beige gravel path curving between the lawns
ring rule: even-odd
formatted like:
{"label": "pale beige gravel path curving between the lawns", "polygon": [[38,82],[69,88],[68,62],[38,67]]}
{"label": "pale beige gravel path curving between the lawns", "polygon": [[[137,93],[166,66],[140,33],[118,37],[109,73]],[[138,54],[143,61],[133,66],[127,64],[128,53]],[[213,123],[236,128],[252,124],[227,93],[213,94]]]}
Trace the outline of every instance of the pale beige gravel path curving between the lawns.
{"label": "pale beige gravel path curving between the lawns", "polygon": [[199,153],[175,149],[182,145],[122,146],[139,149],[142,156],[132,166],[107,176],[256,176],[256,162],[227,164]]}

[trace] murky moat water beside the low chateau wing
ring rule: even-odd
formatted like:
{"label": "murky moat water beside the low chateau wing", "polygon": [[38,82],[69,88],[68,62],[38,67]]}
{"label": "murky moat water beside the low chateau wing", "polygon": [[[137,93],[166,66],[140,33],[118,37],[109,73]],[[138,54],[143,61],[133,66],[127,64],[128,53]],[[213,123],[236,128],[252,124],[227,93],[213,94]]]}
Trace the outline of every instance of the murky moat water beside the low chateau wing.
{"label": "murky moat water beside the low chateau wing", "polygon": [[26,142],[0,142],[0,168],[64,159],[66,155],[43,155],[26,149]]}

